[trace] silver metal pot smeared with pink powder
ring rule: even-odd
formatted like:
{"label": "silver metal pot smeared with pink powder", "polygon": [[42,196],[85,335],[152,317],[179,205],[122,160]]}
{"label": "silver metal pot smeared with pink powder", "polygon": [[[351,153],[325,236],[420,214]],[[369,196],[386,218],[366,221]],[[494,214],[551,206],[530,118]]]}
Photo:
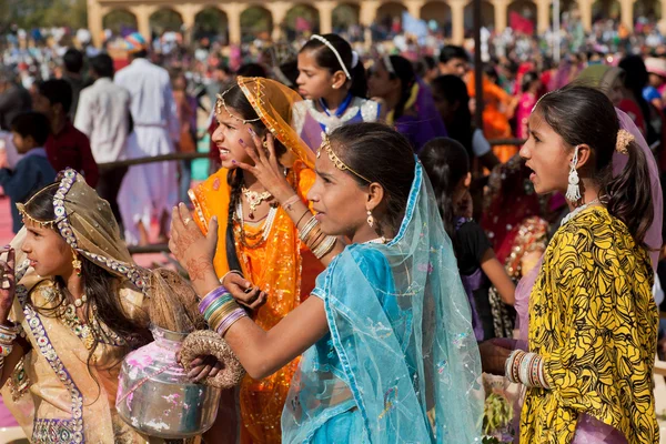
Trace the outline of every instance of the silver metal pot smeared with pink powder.
{"label": "silver metal pot smeared with pink powder", "polygon": [[190,382],[175,361],[186,333],[153,327],[154,342],[130,353],[120,371],[115,408],[149,436],[186,438],[212,427],[220,389]]}

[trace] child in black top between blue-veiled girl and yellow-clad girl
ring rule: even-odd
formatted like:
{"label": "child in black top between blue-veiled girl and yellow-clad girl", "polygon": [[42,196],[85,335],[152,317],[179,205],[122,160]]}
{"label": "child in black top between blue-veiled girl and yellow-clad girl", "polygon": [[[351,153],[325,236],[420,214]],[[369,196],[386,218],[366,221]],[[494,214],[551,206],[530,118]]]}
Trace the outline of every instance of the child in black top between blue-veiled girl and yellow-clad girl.
{"label": "child in black top between blue-veiled girl and yellow-clad girl", "polygon": [[467,151],[453,139],[437,138],[423,147],[418,158],[432,182],[444,229],[453,241],[461,279],[472,305],[476,340],[494,337],[488,290],[494,285],[502,301],[513,305],[515,286],[495,258],[491,241],[481,225],[455,210],[472,180]]}

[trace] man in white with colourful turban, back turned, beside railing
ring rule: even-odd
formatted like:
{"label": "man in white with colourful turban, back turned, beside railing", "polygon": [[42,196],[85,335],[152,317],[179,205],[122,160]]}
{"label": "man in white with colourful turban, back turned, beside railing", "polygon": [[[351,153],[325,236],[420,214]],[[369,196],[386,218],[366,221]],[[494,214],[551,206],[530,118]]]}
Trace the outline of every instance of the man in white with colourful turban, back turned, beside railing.
{"label": "man in white with colourful turban, back turned, beside railing", "polygon": [[[134,32],[125,38],[132,62],[118,71],[115,83],[130,91],[135,143],[129,143],[130,159],[175,152],[180,139],[175,102],[169,72],[147,60],[145,40]],[[125,241],[149,243],[150,222],[160,220],[160,241],[167,241],[171,209],[178,203],[176,162],[133,165],[120,188],[119,204]]]}

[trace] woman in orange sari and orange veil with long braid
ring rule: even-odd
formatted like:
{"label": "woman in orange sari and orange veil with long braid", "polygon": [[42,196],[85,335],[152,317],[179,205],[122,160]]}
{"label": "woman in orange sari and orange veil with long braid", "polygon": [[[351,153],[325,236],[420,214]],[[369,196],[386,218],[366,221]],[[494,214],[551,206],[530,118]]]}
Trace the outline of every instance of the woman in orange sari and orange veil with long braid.
{"label": "woman in orange sari and orange veil with long braid", "polygon": [[[253,319],[265,330],[303,302],[323,271],[322,263],[339,251],[334,239],[320,242],[330,248],[317,246],[313,253],[305,248],[310,241],[299,238],[299,223],[311,218],[304,202],[315,179],[314,152],[290,127],[293,104],[301,100],[273,80],[240,77],[215,104],[219,125],[212,141],[222,169],[190,191],[202,231],[213,216],[219,221],[218,278],[236,300],[255,309]],[[279,205],[255,176],[238,168],[253,164],[246,147],[265,149],[268,139],[274,140],[284,174],[300,200]],[[280,420],[297,362],[261,381],[245,376],[240,386],[241,443],[281,442]]]}

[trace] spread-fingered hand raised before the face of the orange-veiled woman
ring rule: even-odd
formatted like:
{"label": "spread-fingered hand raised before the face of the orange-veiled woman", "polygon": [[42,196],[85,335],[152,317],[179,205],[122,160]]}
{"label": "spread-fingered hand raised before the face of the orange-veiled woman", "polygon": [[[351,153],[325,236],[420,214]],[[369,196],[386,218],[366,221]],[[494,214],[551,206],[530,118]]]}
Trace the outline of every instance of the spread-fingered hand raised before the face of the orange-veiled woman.
{"label": "spread-fingered hand raised before the face of the orange-veiled woman", "polygon": [[232,163],[254,175],[266,191],[271,193],[278,202],[282,203],[294,194],[294,190],[286,181],[283,173],[284,168],[280,164],[278,157],[275,155],[275,141],[273,134],[266,134],[266,150],[258,148],[263,145],[259,135],[256,135],[252,129],[249,129],[249,131],[250,134],[252,134],[254,147],[250,147],[242,139],[239,140],[239,142],[254,162],[254,167],[235,160],[232,160]]}

